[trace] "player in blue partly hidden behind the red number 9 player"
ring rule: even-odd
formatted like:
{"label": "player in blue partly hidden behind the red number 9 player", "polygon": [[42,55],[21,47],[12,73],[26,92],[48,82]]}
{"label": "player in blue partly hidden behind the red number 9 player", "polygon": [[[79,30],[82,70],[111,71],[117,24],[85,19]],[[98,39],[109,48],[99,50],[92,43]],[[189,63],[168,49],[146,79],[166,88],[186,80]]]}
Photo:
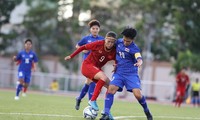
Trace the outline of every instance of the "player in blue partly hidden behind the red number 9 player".
{"label": "player in blue partly hidden behind the red number 9 player", "polygon": [[[98,20],[91,20],[88,23],[88,26],[90,27],[90,34],[87,36],[84,36],[76,45],[76,48],[78,49],[79,47],[81,47],[82,45],[97,41],[97,40],[104,40],[104,37],[99,36],[99,31],[100,31],[100,22]],[[83,59],[85,59],[89,54],[90,51],[84,50],[83,51],[84,55],[83,55]],[[85,81],[85,84],[83,86],[83,88],[81,89],[81,93],[80,95],[76,98],[76,106],[75,109],[79,110],[80,108],[80,103],[81,100],[83,99],[83,97],[86,95],[86,93],[88,92],[88,98],[89,100],[92,97],[92,94],[94,92],[94,88],[95,88],[95,83],[92,82],[90,79],[87,78],[87,80]]]}

